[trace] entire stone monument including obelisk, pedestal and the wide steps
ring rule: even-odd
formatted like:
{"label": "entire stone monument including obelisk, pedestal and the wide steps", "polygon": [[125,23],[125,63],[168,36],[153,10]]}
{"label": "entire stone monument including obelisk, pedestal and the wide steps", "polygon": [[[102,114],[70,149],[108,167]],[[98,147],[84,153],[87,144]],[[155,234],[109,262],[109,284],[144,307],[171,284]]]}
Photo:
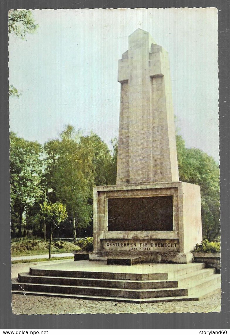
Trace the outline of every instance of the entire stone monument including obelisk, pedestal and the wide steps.
{"label": "entire stone monument including obelisk, pedestal and the wide steps", "polygon": [[110,266],[188,263],[202,239],[200,186],[178,180],[168,56],[146,31],[129,37],[118,80],[117,185],[94,189],[94,252],[74,255],[76,261],[106,259],[109,265],[32,267],[13,279],[12,293],[146,304],[220,292],[220,274],[204,269],[203,260]]}

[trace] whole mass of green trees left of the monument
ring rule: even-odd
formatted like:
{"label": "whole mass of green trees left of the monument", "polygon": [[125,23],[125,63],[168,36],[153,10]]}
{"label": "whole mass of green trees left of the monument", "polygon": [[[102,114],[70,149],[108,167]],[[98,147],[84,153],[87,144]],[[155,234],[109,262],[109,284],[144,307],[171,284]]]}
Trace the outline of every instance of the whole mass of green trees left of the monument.
{"label": "whole mass of green trees left of the monument", "polygon": [[37,142],[25,141],[14,133],[10,137],[12,237],[22,236],[22,225],[24,236],[26,230],[27,234],[32,230],[45,236],[43,229],[50,220],[44,208],[41,210],[45,200],[46,206],[56,202],[66,205],[76,240],[76,230],[92,224],[93,187],[116,183],[117,140],[112,142],[111,155],[98,135],[83,136],[72,126],[66,127],[60,140],[45,143],[44,151]]}

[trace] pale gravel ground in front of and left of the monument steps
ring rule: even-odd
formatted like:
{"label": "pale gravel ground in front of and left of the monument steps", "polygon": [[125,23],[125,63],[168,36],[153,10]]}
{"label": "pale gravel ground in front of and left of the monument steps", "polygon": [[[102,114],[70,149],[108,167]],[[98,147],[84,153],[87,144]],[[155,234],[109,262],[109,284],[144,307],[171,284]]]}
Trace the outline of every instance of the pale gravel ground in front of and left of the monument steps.
{"label": "pale gravel ground in front of and left of the monument steps", "polygon": [[[45,267],[48,264],[52,264],[54,267],[65,267],[69,262],[70,260],[57,260],[42,263],[14,264],[11,268],[11,276],[17,277],[18,272],[26,272],[31,266]],[[76,266],[76,262],[72,262],[71,264],[73,264],[72,266]],[[133,267],[129,268],[131,270]],[[208,313],[220,312],[220,304],[219,293],[200,301],[153,304],[116,303],[74,298],[12,294],[12,312],[14,314]]]}

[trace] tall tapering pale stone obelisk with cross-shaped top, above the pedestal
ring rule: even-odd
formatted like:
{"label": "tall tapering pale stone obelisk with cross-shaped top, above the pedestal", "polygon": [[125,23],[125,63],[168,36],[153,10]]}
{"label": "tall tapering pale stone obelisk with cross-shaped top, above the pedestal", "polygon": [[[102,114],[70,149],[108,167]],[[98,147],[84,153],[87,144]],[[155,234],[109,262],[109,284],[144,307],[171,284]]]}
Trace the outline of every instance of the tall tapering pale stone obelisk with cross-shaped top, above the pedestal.
{"label": "tall tapering pale stone obelisk with cross-shaped top, above the pedestal", "polygon": [[119,60],[117,185],[176,182],[178,165],[167,52],[137,29]]}

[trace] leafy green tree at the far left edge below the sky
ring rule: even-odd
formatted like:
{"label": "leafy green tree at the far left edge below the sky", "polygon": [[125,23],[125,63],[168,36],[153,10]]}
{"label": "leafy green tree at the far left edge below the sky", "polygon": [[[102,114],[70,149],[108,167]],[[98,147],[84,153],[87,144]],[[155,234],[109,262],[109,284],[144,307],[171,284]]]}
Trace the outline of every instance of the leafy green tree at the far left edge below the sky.
{"label": "leafy green tree at the far left edge below the sky", "polygon": [[[23,214],[41,196],[42,147],[10,133],[11,225],[22,236]],[[24,232],[25,235],[25,221]]]}

